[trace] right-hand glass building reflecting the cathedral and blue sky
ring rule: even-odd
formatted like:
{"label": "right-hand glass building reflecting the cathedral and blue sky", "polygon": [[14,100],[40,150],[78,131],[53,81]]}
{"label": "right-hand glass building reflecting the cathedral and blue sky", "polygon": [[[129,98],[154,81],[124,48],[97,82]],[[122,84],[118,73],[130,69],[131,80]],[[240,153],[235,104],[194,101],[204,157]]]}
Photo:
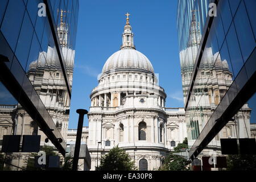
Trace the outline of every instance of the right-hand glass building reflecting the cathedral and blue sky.
{"label": "right-hand glass building reflecting the cathedral and blue sky", "polygon": [[[216,16],[208,14],[210,3],[216,5]],[[222,156],[221,139],[255,138],[255,7],[255,0],[178,2],[177,30],[191,160]],[[241,154],[242,148],[250,148],[242,140],[238,146]]]}

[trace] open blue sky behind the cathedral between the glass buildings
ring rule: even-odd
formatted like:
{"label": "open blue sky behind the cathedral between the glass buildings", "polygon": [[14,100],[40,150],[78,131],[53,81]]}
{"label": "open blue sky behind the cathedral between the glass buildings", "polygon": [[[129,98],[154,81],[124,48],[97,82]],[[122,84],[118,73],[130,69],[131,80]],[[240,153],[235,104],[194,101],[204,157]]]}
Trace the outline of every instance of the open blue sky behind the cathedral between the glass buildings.
{"label": "open blue sky behind the cathedral between the glass buildings", "polygon": [[[129,12],[134,44],[159,73],[167,107],[183,107],[175,0],[80,1],[69,129],[77,128],[76,109],[90,107],[90,92],[105,61],[122,44]],[[85,118],[84,126],[88,126]]]}

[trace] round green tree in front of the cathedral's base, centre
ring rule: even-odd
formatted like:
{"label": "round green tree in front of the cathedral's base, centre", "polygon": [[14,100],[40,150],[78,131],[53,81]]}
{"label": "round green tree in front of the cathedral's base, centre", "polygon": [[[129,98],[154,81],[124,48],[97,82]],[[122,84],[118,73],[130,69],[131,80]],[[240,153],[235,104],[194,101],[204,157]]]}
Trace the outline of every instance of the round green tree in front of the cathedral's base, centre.
{"label": "round green tree in front of the cathedral's base, centre", "polygon": [[98,171],[134,171],[137,170],[135,161],[130,159],[125,150],[117,147],[112,148],[108,154],[102,156]]}

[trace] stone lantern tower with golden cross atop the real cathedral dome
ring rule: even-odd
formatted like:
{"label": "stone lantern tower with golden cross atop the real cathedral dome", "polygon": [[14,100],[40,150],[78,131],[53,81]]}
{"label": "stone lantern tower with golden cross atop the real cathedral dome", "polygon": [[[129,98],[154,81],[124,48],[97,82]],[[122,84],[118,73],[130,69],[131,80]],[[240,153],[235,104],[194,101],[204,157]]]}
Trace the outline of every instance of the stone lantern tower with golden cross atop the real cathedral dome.
{"label": "stone lantern tower with golden cross atop the real cathedral dome", "polygon": [[133,44],[133,32],[131,31],[131,26],[130,26],[130,22],[129,22],[129,16],[130,14],[127,13],[126,14],[127,18],[126,18],[126,25],[125,25],[125,29],[123,30],[123,44],[121,46],[121,50],[122,49],[135,49],[135,46]]}

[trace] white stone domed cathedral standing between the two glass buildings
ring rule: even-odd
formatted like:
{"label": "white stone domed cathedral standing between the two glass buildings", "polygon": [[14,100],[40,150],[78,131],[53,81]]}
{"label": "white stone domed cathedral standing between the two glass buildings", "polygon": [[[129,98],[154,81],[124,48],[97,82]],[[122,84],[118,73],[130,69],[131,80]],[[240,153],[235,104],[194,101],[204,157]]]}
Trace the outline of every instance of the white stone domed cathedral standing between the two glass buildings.
{"label": "white stone domed cathedral standing between the two glass buildings", "polygon": [[158,169],[168,152],[187,137],[184,109],[166,107],[167,95],[133,38],[127,14],[121,49],[106,61],[90,94],[91,170],[114,146],[123,148],[139,170]]}

